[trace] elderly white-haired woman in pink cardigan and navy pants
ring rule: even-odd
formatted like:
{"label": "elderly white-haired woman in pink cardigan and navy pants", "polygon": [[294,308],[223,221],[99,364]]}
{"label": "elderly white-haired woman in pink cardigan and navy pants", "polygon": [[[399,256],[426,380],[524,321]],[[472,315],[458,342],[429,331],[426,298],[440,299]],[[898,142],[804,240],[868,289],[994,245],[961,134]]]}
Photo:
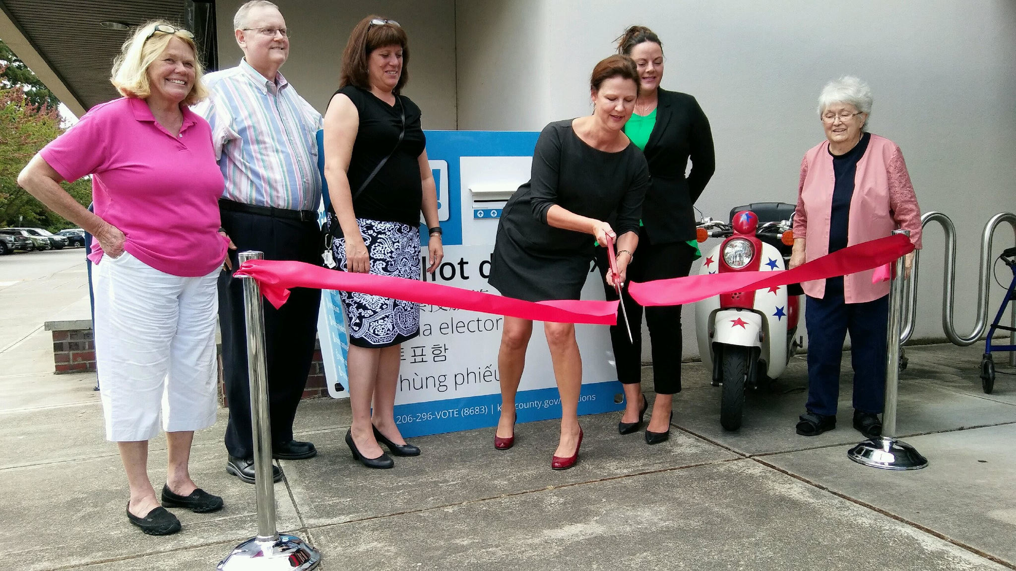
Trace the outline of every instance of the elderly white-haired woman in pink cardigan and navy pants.
{"label": "elderly white-haired woman in pink cardigan and navy pants", "polygon": [[[847,246],[910,231],[920,248],[920,209],[891,140],[867,131],[872,91],[856,77],[830,81],[819,96],[826,139],[801,162],[790,267]],[[907,255],[909,271],[912,254]],[[808,404],[798,434],[836,428],[839,364],[850,333],[853,365],[853,428],[867,438],[882,434],[889,283],[872,283],[872,272],[803,283],[808,296]]]}

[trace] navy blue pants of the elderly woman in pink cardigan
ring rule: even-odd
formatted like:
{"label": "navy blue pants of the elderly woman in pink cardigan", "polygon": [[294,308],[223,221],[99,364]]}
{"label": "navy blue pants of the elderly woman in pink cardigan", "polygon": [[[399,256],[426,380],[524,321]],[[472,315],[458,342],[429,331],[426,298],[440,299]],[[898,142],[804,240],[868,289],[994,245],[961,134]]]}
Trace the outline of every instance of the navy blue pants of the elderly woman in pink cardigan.
{"label": "navy blue pants of the elderly woman in pink cardigan", "polygon": [[836,414],[839,364],[843,339],[849,331],[853,408],[881,413],[885,400],[889,296],[863,304],[844,303],[842,293],[827,294],[821,300],[806,297],[808,411],[823,417]]}

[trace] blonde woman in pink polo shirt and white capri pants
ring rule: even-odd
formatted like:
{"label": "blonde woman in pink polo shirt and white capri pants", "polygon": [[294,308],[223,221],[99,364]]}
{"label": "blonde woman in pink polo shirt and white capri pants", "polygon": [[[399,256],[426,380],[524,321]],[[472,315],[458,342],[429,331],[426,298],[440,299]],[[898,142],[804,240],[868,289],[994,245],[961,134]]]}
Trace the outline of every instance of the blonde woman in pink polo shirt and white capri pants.
{"label": "blonde woman in pink polo shirt and white capri pants", "polygon": [[[106,438],[120,449],[127,517],[148,534],[180,530],[166,507],[210,512],[188,460],[194,431],[215,422],[215,281],[223,176],[193,35],[166,21],[138,27],[113,67],[123,98],[93,107],[41,150],[18,184],[96,237],[96,356]],[[91,175],[91,213],[61,187]],[[166,431],[162,506],[148,481],[148,440]]]}

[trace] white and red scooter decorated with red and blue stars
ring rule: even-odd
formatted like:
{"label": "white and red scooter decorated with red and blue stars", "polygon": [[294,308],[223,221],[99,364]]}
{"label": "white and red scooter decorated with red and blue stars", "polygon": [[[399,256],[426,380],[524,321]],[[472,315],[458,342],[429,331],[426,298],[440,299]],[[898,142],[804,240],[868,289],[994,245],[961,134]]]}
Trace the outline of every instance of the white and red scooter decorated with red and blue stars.
{"label": "white and red scooter decorated with red and blue stars", "polygon": [[[699,242],[725,238],[702,260],[700,274],[775,271],[786,268],[793,245],[793,204],[757,202],[731,211],[731,224],[703,218]],[[695,306],[699,355],[722,385],[719,423],[741,428],[745,390],[775,380],[801,346],[795,336],[802,309],[801,286],[714,296]]]}

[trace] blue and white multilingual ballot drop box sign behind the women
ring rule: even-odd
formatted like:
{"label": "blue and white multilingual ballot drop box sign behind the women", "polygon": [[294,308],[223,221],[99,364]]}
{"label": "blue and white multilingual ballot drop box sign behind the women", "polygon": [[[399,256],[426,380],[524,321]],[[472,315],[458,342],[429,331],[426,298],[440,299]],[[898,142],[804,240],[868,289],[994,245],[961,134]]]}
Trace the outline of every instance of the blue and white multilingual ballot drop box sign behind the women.
{"label": "blue and white multilingual ballot drop box sign behind the women", "polygon": [[[421,248],[421,279],[496,294],[487,277],[502,208],[529,180],[532,150],[539,133],[519,131],[427,131],[427,154],[438,189],[444,261],[427,273],[427,248]],[[426,229],[425,229],[426,230]],[[426,232],[422,236],[427,236]],[[426,243],[422,243],[426,245]],[[591,265],[591,264],[590,264]],[[345,324],[322,294],[319,329],[329,392],[346,387]],[[604,299],[599,272],[590,267],[582,299]],[[501,413],[498,348],[504,318],[438,306],[421,307],[420,335],[402,343],[395,422],[405,437],[497,425]],[[582,392],[578,414],[620,410],[623,393],[614,367],[610,331],[577,325],[582,354]],[[327,341],[326,341],[327,339]],[[328,348],[326,350],[326,344]],[[561,417],[550,352],[543,327],[533,328],[525,371],[516,396],[518,422]]]}

